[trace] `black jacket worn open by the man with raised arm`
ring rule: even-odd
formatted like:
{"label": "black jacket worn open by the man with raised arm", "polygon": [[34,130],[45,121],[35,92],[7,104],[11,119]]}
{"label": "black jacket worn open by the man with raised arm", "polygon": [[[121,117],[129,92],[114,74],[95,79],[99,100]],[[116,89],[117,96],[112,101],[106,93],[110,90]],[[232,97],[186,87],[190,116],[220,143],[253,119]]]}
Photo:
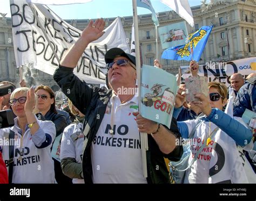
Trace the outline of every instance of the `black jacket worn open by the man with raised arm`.
{"label": "black jacket worn open by the man with raised arm", "polygon": [[[85,82],[73,74],[72,68],[59,66],[53,75],[54,80],[69,97],[72,103],[80,112],[85,114],[84,134],[86,147],[83,153],[83,175],[85,183],[92,183],[91,144],[95,137],[100,123],[102,122],[107,103],[112,95],[112,90],[90,88]],[[99,117],[99,118],[97,118]],[[172,119],[171,131],[180,137],[177,128],[177,121]],[[161,153],[156,141],[149,135],[149,150],[147,157],[147,182],[148,183],[169,183],[169,171],[166,168],[164,157],[169,160],[178,161],[183,154],[182,146],[177,146],[173,152],[166,155]]]}

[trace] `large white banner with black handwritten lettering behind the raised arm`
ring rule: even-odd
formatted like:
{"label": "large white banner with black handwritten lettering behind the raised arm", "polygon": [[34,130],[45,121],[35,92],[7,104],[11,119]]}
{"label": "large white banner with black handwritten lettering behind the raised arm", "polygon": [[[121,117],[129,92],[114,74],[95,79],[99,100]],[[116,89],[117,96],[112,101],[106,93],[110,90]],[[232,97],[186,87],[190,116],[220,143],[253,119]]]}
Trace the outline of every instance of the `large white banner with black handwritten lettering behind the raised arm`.
{"label": "large white banner with black handwritten lettering behind the raised arm", "polygon": [[[10,4],[17,67],[34,63],[36,69],[53,75],[59,63],[45,35],[48,36],[61,60],[68,49],[79,39],[82,31],[59,18],[46,5],[37,4],[35,9],[43,25],[42,30],[25,0],[10,0]],[[87,83],[105,83],[107,69],[104,56],[110,48],[119,47],[130,53],[120,18],[114,20],[104,32],[102,37],[87,46],[74,70],[74,73]]]}

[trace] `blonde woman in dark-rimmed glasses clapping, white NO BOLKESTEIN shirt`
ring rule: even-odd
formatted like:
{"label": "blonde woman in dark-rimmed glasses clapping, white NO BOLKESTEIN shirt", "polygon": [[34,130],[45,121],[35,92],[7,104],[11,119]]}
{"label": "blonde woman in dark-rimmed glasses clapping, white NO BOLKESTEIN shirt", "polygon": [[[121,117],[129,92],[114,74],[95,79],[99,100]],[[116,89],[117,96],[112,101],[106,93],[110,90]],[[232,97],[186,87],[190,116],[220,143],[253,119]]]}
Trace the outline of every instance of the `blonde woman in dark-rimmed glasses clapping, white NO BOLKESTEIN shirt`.
{"label": "blonde woman in dark-rimmed glasses clapping, white NO BOLKESTEIN shirt", "polygon": [[33,113],[36,102],[37,96],[33,88],[17,88],[11,94],[9,103],[17,116],[14,119],[15,125],[0,130],[0,138],[11,138],[10,136],[14,135],[16,142],[13,149],[10,149],[10,153],[13,152],[14,155],[12,159],[10,147],[3,146],[3,159],[9,171],[9,183],[55,181],[50,155],[52,141],[56,135],[55,125],[51,121],[36,118]]}

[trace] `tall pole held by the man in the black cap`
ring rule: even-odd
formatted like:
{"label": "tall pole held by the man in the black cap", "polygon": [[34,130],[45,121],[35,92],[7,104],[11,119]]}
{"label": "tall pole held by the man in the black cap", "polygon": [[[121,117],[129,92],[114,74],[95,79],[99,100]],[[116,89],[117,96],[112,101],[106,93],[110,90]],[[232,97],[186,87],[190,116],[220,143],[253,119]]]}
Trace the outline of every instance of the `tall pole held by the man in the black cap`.
{"label": "tall pole held by the man in the black cap", "polygon": [[[139,99],[139,111],[140,111],[140,87],[141,87],[141,76],[140,76],[140,54],[139,54],[139,28],[138,28],[138,14],[137,14],[137,0],[132,0],[133,7],[133,23],[134,23],[134,41],[135,41],[135,53],[136,53],[136,71],[137,71],[137,83],[138,83],[138,99]],[[147,133],[140,133],[140,142],[142,148],[142,168],[143,175],[147,177],[147,160],[146,150],[148,150]]]}

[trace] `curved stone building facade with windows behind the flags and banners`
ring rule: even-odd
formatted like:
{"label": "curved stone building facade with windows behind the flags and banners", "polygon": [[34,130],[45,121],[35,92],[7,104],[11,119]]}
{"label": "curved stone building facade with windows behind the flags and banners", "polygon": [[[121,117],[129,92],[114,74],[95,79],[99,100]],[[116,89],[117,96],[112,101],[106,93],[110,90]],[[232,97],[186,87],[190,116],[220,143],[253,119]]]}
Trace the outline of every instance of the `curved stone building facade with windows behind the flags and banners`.
{"label": "curved stone building facade with windows behind the flags and banners", "polygon": [[[207,45],[201,55],[200,64],[206,62],[231,61],[256,56],[256,0],[211,0],[191,8],[194,27],[187,25],[188,33],[197,31],[201,26],[214,25]],[[2,13],[1,13],[2,14]],[[106,26],[115,18],[106,18]],[[158,13],[160,26],[183,21],[174,11]],[[79,30],[89,23],[89,19],[66,20]],[[131,42],[132,16],[122,17],[122,24],[127,40]],[[138,16],[139,42],[142,62],[153,65],[156,55],[156,29],[151,14]],[[158,38],[159,55],[164,51]],[[179,66],[186,66],[187,61],[160,60],[164,69],[172,74],[178,73]],[[51,75],[32,69],[31,75],[37,83],[54,85]],[[12,42],[11,18],[0,17],[0,81],[18,82],[19,70],[16,68]]]}

